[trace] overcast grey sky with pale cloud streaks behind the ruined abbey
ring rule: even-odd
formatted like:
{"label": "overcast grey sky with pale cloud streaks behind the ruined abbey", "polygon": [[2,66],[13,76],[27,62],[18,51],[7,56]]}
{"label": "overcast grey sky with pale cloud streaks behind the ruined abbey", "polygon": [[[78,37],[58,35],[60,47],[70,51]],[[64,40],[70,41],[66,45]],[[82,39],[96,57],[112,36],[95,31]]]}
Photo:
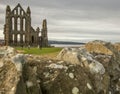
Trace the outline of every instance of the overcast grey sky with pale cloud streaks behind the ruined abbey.
{"label": "overcast grey sky with pale cloud streaks behind the ruined abbey", "polygon": [[120,42],[120,0],[0,0],[0,38],[6,5],[30,6],[32,26],[47,19],[49,40]]}

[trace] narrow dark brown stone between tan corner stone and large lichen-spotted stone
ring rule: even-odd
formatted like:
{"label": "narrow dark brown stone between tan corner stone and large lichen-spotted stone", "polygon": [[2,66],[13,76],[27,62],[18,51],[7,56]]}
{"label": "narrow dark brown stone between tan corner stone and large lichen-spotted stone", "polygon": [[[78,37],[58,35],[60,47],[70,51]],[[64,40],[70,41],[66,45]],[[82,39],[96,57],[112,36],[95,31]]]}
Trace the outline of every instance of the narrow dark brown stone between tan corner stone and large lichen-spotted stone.
{"label": "narrow dark brown stone between tan corner stone and large lichen-spotted stone", "polygon": [[37,66],[23,67],[23,79],[26,84],[27,94],[42,94],[40,87],[40,79],[37,75]]}

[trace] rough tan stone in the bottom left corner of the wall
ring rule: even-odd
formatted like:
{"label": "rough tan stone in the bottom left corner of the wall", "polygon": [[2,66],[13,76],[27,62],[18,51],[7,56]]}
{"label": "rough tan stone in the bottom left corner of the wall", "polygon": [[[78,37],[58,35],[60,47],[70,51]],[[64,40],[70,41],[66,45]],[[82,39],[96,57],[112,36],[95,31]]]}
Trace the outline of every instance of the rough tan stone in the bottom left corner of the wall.
{"label": "rough tan stone in the bottom left corner of the wall", "polygon": [[0,67],[0,94],[15,94],[21,74],[11,61],[2,61],[2,63],[3,66]]}

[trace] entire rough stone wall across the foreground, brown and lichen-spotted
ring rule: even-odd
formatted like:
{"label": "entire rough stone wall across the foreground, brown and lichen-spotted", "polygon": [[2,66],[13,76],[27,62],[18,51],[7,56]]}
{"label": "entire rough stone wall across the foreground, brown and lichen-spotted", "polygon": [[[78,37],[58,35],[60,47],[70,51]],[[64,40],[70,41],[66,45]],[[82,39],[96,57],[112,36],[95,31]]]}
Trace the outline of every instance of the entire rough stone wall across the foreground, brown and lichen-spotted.
{"label": "entire rough stone wall across the foreground, brown and lichen-spotted", "polygon": [[56,60],[0,50],[0,94],[120,94],[119,44],[64,48]]}

